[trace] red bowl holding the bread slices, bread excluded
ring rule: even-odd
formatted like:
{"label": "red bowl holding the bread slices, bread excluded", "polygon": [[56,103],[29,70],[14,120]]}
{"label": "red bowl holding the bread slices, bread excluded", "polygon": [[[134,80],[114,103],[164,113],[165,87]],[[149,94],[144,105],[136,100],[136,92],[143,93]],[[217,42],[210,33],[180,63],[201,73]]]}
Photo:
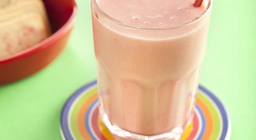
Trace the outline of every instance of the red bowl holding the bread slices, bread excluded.
{"label": "red bowl holding the bread slices, bread excluded", "polygon": [[30,76],[46,67],[65,48],[77,14],[75,0],[43,0],[53,34],[43,42],[0,60],[0,84]]}

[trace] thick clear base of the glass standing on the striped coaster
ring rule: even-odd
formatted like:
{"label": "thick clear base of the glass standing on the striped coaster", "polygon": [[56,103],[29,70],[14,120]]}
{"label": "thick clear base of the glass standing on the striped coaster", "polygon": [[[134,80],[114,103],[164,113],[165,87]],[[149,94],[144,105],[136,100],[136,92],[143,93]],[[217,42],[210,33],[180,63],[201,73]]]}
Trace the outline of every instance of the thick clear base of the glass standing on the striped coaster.
{"label": "thick clear base of the glass standing on the striped coaster", "polygon": [[146,136],[125,131],[118,126],[111,124],[108,115],[105,113],[102,115],[101,119],[113,136],[117,136],[125,140],[179,140],[183,134],[183,127],[177,127],[169,132]]}

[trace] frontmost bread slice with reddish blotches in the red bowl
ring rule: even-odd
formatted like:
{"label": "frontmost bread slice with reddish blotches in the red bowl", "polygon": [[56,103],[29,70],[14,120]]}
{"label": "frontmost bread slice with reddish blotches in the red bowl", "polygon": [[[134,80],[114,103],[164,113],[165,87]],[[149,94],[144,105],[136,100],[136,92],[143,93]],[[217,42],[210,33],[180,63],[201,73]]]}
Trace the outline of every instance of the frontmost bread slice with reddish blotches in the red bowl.
{"label": "frontmost bread slice with reddish blotches in the red bowl", "polygon": [[43,41],[49,36],[48,28],[38,12],[23,14],[0,23],[0,59]]}

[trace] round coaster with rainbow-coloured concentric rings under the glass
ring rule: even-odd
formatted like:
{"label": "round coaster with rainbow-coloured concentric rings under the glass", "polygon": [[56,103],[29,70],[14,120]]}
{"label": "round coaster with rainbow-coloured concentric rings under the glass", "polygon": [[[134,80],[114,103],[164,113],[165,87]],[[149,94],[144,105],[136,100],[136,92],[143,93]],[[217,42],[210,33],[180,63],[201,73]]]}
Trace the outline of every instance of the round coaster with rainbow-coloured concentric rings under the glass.
{"label": "round coaster with rainbow-coloured concentric rings under the glass", "polygon": [[[113,140],[98,118],[97,82],[75,92],[61,113],[64,140]],[[181,140],[229,140],[231,123],[227,110],[211,92],[199,86],[195,115]]]}

